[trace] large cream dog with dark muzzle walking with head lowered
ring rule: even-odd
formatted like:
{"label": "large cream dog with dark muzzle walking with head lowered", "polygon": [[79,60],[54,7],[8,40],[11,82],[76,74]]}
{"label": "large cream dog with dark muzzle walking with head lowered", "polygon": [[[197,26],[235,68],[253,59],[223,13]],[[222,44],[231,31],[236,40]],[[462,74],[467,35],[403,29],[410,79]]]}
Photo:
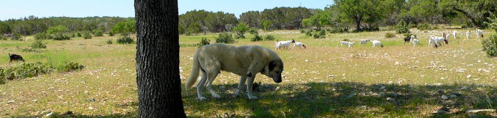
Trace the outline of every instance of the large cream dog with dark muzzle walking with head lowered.
{"label": "large cream dog with dark muzzle walking with head lowered", "polygon": [[240,96],[241,89],[247,81],[248,99],[257,99],[252,93],[255,74],[260,72],[279,83],[281,82],[283,61],[273,51],[260,46],[236,47],[225,44],[210,44],[200,47],[195,53],[192,71],[185,84],[186,89],[195,83],[199,70],[202,71],[202,79],[197,85],[199,100],[206,99],[202,96],[201,91],[204,84],[214,98],[221,97],[212,89],[212,81],[221,70],[240,75],[235,96]]}

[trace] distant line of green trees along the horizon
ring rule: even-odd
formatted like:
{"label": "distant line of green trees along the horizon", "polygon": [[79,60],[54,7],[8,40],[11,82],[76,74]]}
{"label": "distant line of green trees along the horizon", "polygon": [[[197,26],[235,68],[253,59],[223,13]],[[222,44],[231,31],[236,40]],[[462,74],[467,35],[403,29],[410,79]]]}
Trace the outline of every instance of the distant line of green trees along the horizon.
{"label": "distant line of green trees along the horizon", "polygon": [[[262,11],[247,11],[239,18],[223,11],[191,10],[179,15],[180,34],[231,32],[239,24],[250,28],[302,29],[336,31],[375,31],[379,26],[394,26],[400,21],[413,26],[462,25],[485,27],[488,17],[496,13],[497,0],[333,0],[324,9],[305,7],[274,7]],[[111,31],[118,22],[134,20],[121,17],[43,17],[28,16],[0,22],[0,33],[31,35],[52,26],[63,25],[72,32]],[[331,32],[334,32],[331,30]],[[242,36],[242,35],[240,35]]]}

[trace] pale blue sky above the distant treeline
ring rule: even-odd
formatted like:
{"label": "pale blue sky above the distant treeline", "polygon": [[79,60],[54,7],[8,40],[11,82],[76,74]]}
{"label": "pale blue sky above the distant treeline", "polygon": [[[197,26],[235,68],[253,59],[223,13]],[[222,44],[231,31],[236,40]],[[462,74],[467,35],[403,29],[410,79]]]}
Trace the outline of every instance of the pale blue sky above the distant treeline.
{"label": "pale blue sky above the distant treeline", "polygon": [[[332,0],[178,0],[179,14],[193,9],[240,14],[280,6],[324,8]],[[134,17],[134,0],[2,0],[0,20],[34,15],[38,17],[120,16]]]}

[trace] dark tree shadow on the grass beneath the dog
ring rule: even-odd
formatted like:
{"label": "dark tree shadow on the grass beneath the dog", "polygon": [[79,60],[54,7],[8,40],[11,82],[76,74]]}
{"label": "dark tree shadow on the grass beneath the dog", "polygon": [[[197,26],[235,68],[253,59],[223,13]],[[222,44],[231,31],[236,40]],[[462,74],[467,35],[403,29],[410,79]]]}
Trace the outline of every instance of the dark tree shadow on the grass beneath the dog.
{"label": "dark tree shadow on the grass beneath the dog", "polygon": [[[276,89],[276,86],[280,88]],[[467,109],[496,109],[497,89],[485,85],[398,85],[354,82],[262,84],[255,95],[234,97],[237,84],[216,85],[222,96],[196,100],[196,90],[183,95],[189,117],[216,117],[228,113],[237,117],[496,117],[495,113],[466,114]],[[462,88],[462,89],[461,89]],[[458,95],[457,92],[461,95]],[[448,100],[443,100],[442,95]],[[486,97],[488,96],[488,98]],[[436,110],[445,114],[433,114]]]}

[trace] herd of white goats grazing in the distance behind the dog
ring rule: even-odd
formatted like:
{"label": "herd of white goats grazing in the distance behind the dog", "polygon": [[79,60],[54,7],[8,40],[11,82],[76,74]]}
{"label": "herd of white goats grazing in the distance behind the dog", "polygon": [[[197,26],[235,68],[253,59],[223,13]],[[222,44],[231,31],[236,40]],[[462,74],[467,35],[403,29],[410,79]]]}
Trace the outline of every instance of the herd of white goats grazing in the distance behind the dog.
{"label": "herd of white goats grazing in the distance behind the dog", "polygon": [[[466,39],[469,39],[469,36],[471,34],[471,31],[466,31]],[[482,37],[483,38],[483,31],[480,30],[480,29],[476,29],[476,38],[480,38]],[[456,35],[457,35],[457,31],[452,31],[452,36],[454,36],[454,39],[456,39]],[[449,44],[449,36],[450,34],[449,33],[445,33],[443,32],[442,33],[442,37],[439,37],[439,36],[432,36],[428,39],[428,48],[430,46],[432,46],[433,48],[438,48],[439,46],[442,46],[443,43],[445,44]],[[383,44],[378,41],[378,40],[373,40],[371,41],[371,39],[361,39],[359,41],[359,45],[366,45],[366,43],[368,42],[371,42],[373,44],[373,48],[375,48],[376,46],[380,46],[383,48]],[[409,43],[413,43],[413,47],[416,46],[416,44],[421,44],[421,42],[416,39],[416,37],[414,35],[411,35],[409,37],[406,37],[404,38],[404,44],[409,44]],[[293,44],[293,48],[295,49],[296,47],[304,47],[306,48],[307,46],[304,44],[304,43],[301,43],[301,42],[296,42],[294,39],[292,39],[291,41],[278,41],[276,40],[276,42],[274,42],[274,48],[275,49],[287,49],[287,50],[290,50],[290,45],[291,43],[294,43]],[[355,43],[354,42],[350,42],[350,41],[340,41],[340,47],[342,47],[343,45],[345,46],[348,46],[348,48],[351,48]]]}

